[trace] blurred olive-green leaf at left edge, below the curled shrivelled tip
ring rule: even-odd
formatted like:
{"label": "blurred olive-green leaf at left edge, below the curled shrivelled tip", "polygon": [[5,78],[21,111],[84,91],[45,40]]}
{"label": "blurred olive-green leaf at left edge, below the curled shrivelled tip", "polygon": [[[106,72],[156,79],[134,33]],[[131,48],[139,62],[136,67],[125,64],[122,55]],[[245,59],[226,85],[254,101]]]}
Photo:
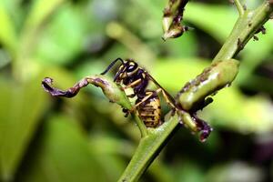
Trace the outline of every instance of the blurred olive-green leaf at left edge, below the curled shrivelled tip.
{"label": "blurred olive-green leaf at left edge, below the curled shrivelled tip", "polygon": [[5,179],[13,178],[17,164],[22,160],[43,110],[48,105],[45,94],[33,85],[33,82],[38,81],[33,79],[24,85],[15,85],[9,82],[9,78],[1,79],[0,99],[5,104],[0,107],[0,169]]}

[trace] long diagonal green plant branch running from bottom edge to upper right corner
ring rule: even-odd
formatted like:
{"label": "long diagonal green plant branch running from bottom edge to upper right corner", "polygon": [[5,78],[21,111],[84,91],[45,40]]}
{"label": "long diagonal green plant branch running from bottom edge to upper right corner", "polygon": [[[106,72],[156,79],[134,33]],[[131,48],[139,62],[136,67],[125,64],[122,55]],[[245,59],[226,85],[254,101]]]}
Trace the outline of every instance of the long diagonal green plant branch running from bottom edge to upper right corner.
{"label": "long diagonal green plant branch running from bottom edge to upper right corner", "polygon": [[[235,3],[239,12],[238,21],[234,25],[231,34],[227,37],[226,43],[222,46],[217,56],[213,59],[212,65],[204,70],[202,73],[204,76],[200,75],[197,79],[197,81],[200,81],[201,84],[204,84],[204,88],[200,88],[202,90],[199,92],[196,92],[193,89],[192,92],[189,93],[189,96],[198,97],[200,100],[187,100],[186,102],[189,104],[189,107],[187,108],[188,111],[193,109],[192,107],[195,106],[194,103],[190,102],[196,102],[199,104],[204,103],[204,97],[209,96],[212,91],[217,91],[218,89],[223,88],[225,84],[231,84],[237,75],[238,70],[237,62],[236,60],[232,59],[232,57],[238,55],[238,52],[243,49],[253,35],[257,34],[258,31],[261,30],[262,25],[268,21],[269,16],[272,14],[272,0],[265,1],[253,11],[244,10],[243,6],[240,5],[238,1],[235,1]],[[234,65],[230,66],[231,69],[234,67],[233,74],[229,74],[230,72],[226,69],[226,64],[228,61],[231,61],[232,65]],[[219,66],[219,63],[222,65],[220,66],[220,69],[218,67],[213,68],[214,66]],[[218,83],[218,81],[215,79],[209,79],[209,77],[212,75],[224,76],[224,80],[222,80],[224,84],[222,85],[221,83]],[[221,80],[222,78],[219,79]],[[205,82],[208,82],[208,84]],[[190,85],[187,84],[183,87],[183,89],[187,88],[187,86]],[[207,89],[207,86],[209,89]],[[200,93],[202,96],[196,96]],[[183,101],[185,101],[184,98],[181,98],[178,102],[181,103]],[[207,105],[205,104],[205,106]],[[191,117],[190,115],[185,116]],[[148,130],[149,132],[147,136],[141,138],[139,146],[136,148],[135,155],[132,157],[130,163],[126,167],[122,177],[120,177],[120,182],[136,181],[139,179],[139,177],[141,177],[147,167],[157,156],[161,147],[163,147],[167,141],[167,138],[171,136],[170,134],[172,134],[175,131],[175,128],[177,128],[179,119],[181,118],[179,118],[177,115],[169,117],[162,126],[159,126],[156,129]],[[197,123],[190,122],[189,124],[193,124],[193,126],[191,126],[193,130],[197,128]]]}

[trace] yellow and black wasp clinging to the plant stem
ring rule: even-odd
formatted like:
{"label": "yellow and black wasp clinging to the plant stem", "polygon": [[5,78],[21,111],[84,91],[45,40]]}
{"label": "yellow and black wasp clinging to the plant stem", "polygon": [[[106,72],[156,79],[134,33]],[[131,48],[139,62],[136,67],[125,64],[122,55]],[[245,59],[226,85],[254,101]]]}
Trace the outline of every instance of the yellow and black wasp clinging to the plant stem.
{"label": "yellow and black wasp clinging to the plant stem", "polygon": [[[121,66],[118,67],[114,82],[124,85],[122,88],[123,90],[126,90],[127,88],[133,89],[133,94],[128,97],[136,96],[135,106],[130,110],[123,109],[126,116],[129,113],[136,111],[136,114],[147,127],[160,126],[162,124],[161,104],[158,95],[159,93],[162,93],[167,104],[173,109],[176,108],[174,98],[170,96],[144,68],[138,66],[133,59],[123,60],[121,58],[116,58],[116,60],[107,66],[106,70],[101,73],[101,75],[105,75],[117,61],[121,62]],[[156,90],[147,89],[150,82],[157,86]]]}

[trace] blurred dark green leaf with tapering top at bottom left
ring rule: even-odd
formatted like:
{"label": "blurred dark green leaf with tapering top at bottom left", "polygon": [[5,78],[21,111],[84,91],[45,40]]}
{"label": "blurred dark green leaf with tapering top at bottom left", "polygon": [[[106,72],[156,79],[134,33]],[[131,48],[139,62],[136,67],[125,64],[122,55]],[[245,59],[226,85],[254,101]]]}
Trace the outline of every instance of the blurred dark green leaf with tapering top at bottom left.
{"label": "blurred dark green leaf with tapering top at bottom left", "polygon": [[90,150],[87,137],[76,121],[67,116],[52,116],[39,132],[39,144],[30,157],[20,181],[107,181]]}

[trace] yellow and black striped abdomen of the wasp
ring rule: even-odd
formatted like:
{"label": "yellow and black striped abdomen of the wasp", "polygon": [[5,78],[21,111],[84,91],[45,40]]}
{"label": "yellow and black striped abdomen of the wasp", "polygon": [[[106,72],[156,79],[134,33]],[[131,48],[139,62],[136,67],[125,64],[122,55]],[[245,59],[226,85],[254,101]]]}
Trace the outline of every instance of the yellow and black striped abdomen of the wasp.
{"label": "yellow and black striped abdomen of the wasp", "polygon": [[[141,102],[137,100],[136,104]],[[158,96],[152,96],[136,107],[137,114],[147,127],[157,127],[161,124],[161,108]]]}

